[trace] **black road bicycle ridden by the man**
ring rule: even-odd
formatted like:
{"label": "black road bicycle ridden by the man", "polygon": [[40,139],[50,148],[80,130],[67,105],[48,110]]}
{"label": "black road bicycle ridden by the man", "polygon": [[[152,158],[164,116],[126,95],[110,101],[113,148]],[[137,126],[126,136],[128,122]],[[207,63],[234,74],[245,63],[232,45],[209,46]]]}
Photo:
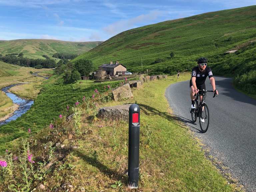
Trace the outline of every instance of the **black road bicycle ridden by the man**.
{"label": "black road bicycle ridden by the man", "polygon": [[[199,94],[202,93],[202,94]],[[192,118],[192,122],[195,123],[197,120],[197,117],[199,118],[199,124],[200,124],[200,128],[201,131],[203,133],[205,133],[209,127],[209,120],[210,120],[210,116],[209,116],[209,109],[205,103],[205,98],[206,98],[206,93],[207,92],[214,92],[214,91],[208,91],[208,90],[199,90],[199,92],[197,94],[195,94],[194,96],[196,96],[195,99],[195,109],[190,109],[190,113],[191,113],[191,118]],[[202,102],[198,103],[198,99],[199,96],[203,96]],[[214,92],[214,96],[213,98],[216,96],[216,91]],[[217,95],[218,96],[218,95]]]}

